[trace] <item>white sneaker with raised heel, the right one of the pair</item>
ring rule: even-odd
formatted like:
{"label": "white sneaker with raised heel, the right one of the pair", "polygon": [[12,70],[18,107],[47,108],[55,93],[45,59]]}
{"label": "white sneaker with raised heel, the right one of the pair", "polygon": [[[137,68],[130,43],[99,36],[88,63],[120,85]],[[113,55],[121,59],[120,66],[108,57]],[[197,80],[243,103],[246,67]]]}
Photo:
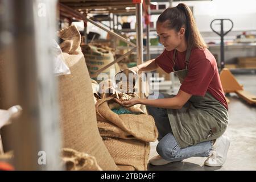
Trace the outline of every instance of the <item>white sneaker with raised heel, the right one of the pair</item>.
{"label": "white sneaker with raised heel, the right one of the pair", "polygon": [[217,138],[213,144],[213,150],[210,151],[210,156],[205,160],[204,165],[210,167],[222,166],[226,161],[226,155],[230,146],[230,139],[222,135]]}

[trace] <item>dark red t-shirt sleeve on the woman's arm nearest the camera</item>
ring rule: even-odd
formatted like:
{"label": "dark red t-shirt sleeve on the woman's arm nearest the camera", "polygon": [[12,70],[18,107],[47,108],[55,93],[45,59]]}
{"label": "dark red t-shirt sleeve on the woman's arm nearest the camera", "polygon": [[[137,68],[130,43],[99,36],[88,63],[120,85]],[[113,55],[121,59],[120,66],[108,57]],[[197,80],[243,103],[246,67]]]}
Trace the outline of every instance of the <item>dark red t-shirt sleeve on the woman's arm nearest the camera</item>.
{"label": "dark red t-shirt sleeve on the woman's arm nearest the camera", "polygon": [[214,74],[215,71],[208,59],[195,60],[195,63],[189,64],[187,77],[180,89],[192,95],[204,96]]}

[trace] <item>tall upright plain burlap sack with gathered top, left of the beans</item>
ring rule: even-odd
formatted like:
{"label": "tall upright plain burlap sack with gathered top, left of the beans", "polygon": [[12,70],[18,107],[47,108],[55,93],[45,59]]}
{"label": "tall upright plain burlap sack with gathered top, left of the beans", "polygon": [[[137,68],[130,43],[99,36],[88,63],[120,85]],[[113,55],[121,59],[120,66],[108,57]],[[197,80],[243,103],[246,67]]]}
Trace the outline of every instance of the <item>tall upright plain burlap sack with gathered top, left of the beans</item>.
{"label": "tall upright plain burlap sack with gathered top, left of the beans", "polygon": [[60,47],[71,70],[71,75],[58,77],[63,147],[94,156],[103,170],[118,170],[98,131],[92,85],[80,48],[81,35],[75,26],[60,31],[60,38],[63,35]]}

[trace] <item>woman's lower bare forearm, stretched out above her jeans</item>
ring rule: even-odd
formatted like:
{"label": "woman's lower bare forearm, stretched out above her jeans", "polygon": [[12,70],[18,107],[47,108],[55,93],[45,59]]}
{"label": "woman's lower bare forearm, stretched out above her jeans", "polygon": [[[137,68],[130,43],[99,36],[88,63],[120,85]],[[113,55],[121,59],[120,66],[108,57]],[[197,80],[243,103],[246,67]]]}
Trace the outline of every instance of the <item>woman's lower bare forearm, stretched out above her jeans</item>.
{"label": "woman's lower bare forearm, stretched out above her jeans", "polygon": [[149,105],[153,107],[160,107],[165,109],[181,109],[182,105],[176,97],[172,98],[160,98],[155,100],[149,100],[146,98],[139,98],[139,104]]}

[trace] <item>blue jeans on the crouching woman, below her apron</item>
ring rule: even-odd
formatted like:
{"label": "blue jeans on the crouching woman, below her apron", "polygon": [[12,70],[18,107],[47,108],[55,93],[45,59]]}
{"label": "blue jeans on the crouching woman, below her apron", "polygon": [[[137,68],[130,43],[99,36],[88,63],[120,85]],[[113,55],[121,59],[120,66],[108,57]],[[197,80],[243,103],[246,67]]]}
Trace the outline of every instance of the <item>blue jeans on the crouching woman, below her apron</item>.
{"label": "blue jeans on the crouching woman, below her apron", "polygon": [[[149,97],[150,98],[150,97]],[[164,98],[163,94],[159,93],[157,98]],[[166,109],[146,106],[148,114],[155,119],[155,125],[158,129],[158,145],[156,151],[166,160],[176,162],[191,157],[208,157],[212,150],[213,141],[201,142],[195,146],[180,148],[174,135],[172,134],[171,125],[169,122]]]}

